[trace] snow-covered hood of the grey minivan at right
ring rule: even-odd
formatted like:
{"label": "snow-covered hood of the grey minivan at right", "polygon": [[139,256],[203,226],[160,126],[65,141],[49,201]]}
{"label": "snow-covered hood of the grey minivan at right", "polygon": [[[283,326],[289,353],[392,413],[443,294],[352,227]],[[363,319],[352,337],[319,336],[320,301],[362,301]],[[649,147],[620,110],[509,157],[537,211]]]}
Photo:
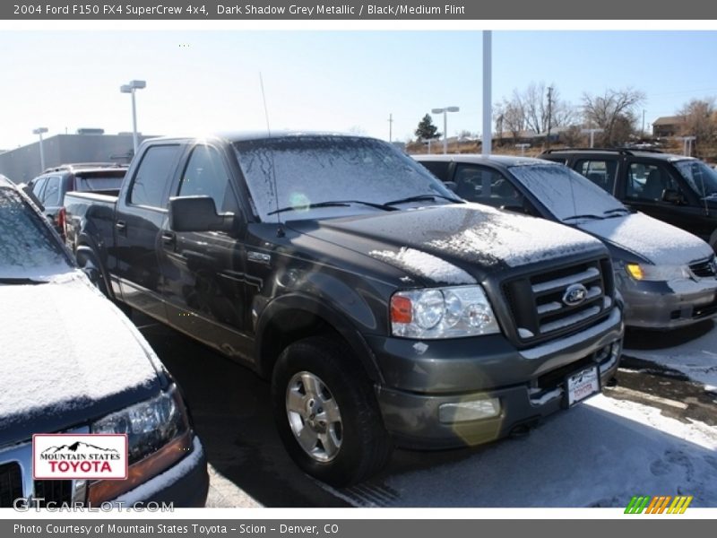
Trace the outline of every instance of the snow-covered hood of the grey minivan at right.
{"label": "snow-covered hood of the grey minivan at right", "polygon": [[581,230],[644,256],[655,265],[687,265],[712,256],[702,239],[643,213],[581,221]]}

